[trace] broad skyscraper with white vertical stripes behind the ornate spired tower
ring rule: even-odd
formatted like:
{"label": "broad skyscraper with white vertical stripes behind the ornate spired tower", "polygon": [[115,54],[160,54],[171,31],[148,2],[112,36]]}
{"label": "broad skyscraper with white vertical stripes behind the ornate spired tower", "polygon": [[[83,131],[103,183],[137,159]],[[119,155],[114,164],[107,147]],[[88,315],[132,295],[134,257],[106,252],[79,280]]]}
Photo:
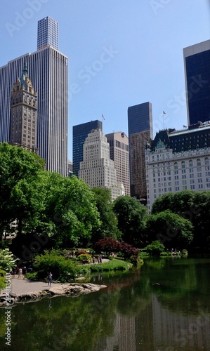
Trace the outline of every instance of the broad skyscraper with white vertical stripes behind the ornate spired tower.
{"label": "broad skyscraper with white vertical stripes behind the ornate spired tower", "polygon": [[[49,18],[48,18],[49,21]],[[39,28],[41,40],[47,27]],[[58,40],[58,32],[54,41]],[[10,95],[22,67],[27,62],[28,75],[37,91],[37,148],[46,161],[46,170],[67,176],[67,56],[45,44],[34,53],[27,53],[0,67],[0,141],[9,141]]]}

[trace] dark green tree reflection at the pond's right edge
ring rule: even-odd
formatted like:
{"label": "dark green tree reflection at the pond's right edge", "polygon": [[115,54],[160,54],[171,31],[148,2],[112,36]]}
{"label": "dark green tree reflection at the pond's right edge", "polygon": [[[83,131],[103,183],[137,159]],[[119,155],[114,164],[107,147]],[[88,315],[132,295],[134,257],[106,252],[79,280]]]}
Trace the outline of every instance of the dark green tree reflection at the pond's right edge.
{"label": "dark green tree reflection at the pond's right edge", "polygon": [[[206,305],[206,313],[210,313],[209,296],[203,291],[210,289],[209,273],[198,262],[196,259],[177,260],[171,266],[169,260],[169,270],[166,263],[165,269],[154,271],[154,279],[150,274],[151,291],[156,294],[163,307],[173,312],[200,314],[199,305]],[[209,267],[209,263],[206,264]],[[159,285],[152,286],[154,282]]]}

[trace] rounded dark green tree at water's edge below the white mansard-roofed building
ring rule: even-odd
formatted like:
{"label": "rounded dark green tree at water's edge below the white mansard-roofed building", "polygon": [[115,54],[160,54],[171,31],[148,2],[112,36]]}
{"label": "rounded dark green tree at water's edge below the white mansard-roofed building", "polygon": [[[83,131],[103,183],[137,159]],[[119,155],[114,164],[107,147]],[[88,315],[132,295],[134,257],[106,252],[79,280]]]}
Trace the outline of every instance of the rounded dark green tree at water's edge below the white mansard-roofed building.
{"label": "rounded dark green tree at water's edge below the white mansard-roofed building", "polygon": [[147,218],[147,239],[161,241],[166,248],[184,249],[192,242],[192,223],[171,211],[162,211]]}

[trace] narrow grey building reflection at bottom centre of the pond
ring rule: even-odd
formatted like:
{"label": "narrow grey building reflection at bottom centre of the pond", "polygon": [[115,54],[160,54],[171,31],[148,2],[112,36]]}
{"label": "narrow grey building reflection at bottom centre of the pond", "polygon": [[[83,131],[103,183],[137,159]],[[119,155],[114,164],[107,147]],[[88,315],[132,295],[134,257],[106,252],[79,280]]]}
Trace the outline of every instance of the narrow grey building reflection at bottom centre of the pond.
{"label": "narrow grey building reflection at bottom centre of the pond", "polygon": [[135,338],[135,317],[117,313],[114,320],[113,336],[100,340],[96,350],[137,351]]}

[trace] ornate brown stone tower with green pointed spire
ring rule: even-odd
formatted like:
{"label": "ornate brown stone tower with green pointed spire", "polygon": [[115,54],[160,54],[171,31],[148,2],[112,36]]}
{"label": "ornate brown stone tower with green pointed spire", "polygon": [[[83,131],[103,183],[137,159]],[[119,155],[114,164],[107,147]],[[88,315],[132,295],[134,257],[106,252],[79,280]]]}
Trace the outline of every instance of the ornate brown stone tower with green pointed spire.
{"label": "ornate brown stone tower with green pointed spire", "polygon": [[10,143],[37,152],[37,91],[24,66],[11,92]]}

